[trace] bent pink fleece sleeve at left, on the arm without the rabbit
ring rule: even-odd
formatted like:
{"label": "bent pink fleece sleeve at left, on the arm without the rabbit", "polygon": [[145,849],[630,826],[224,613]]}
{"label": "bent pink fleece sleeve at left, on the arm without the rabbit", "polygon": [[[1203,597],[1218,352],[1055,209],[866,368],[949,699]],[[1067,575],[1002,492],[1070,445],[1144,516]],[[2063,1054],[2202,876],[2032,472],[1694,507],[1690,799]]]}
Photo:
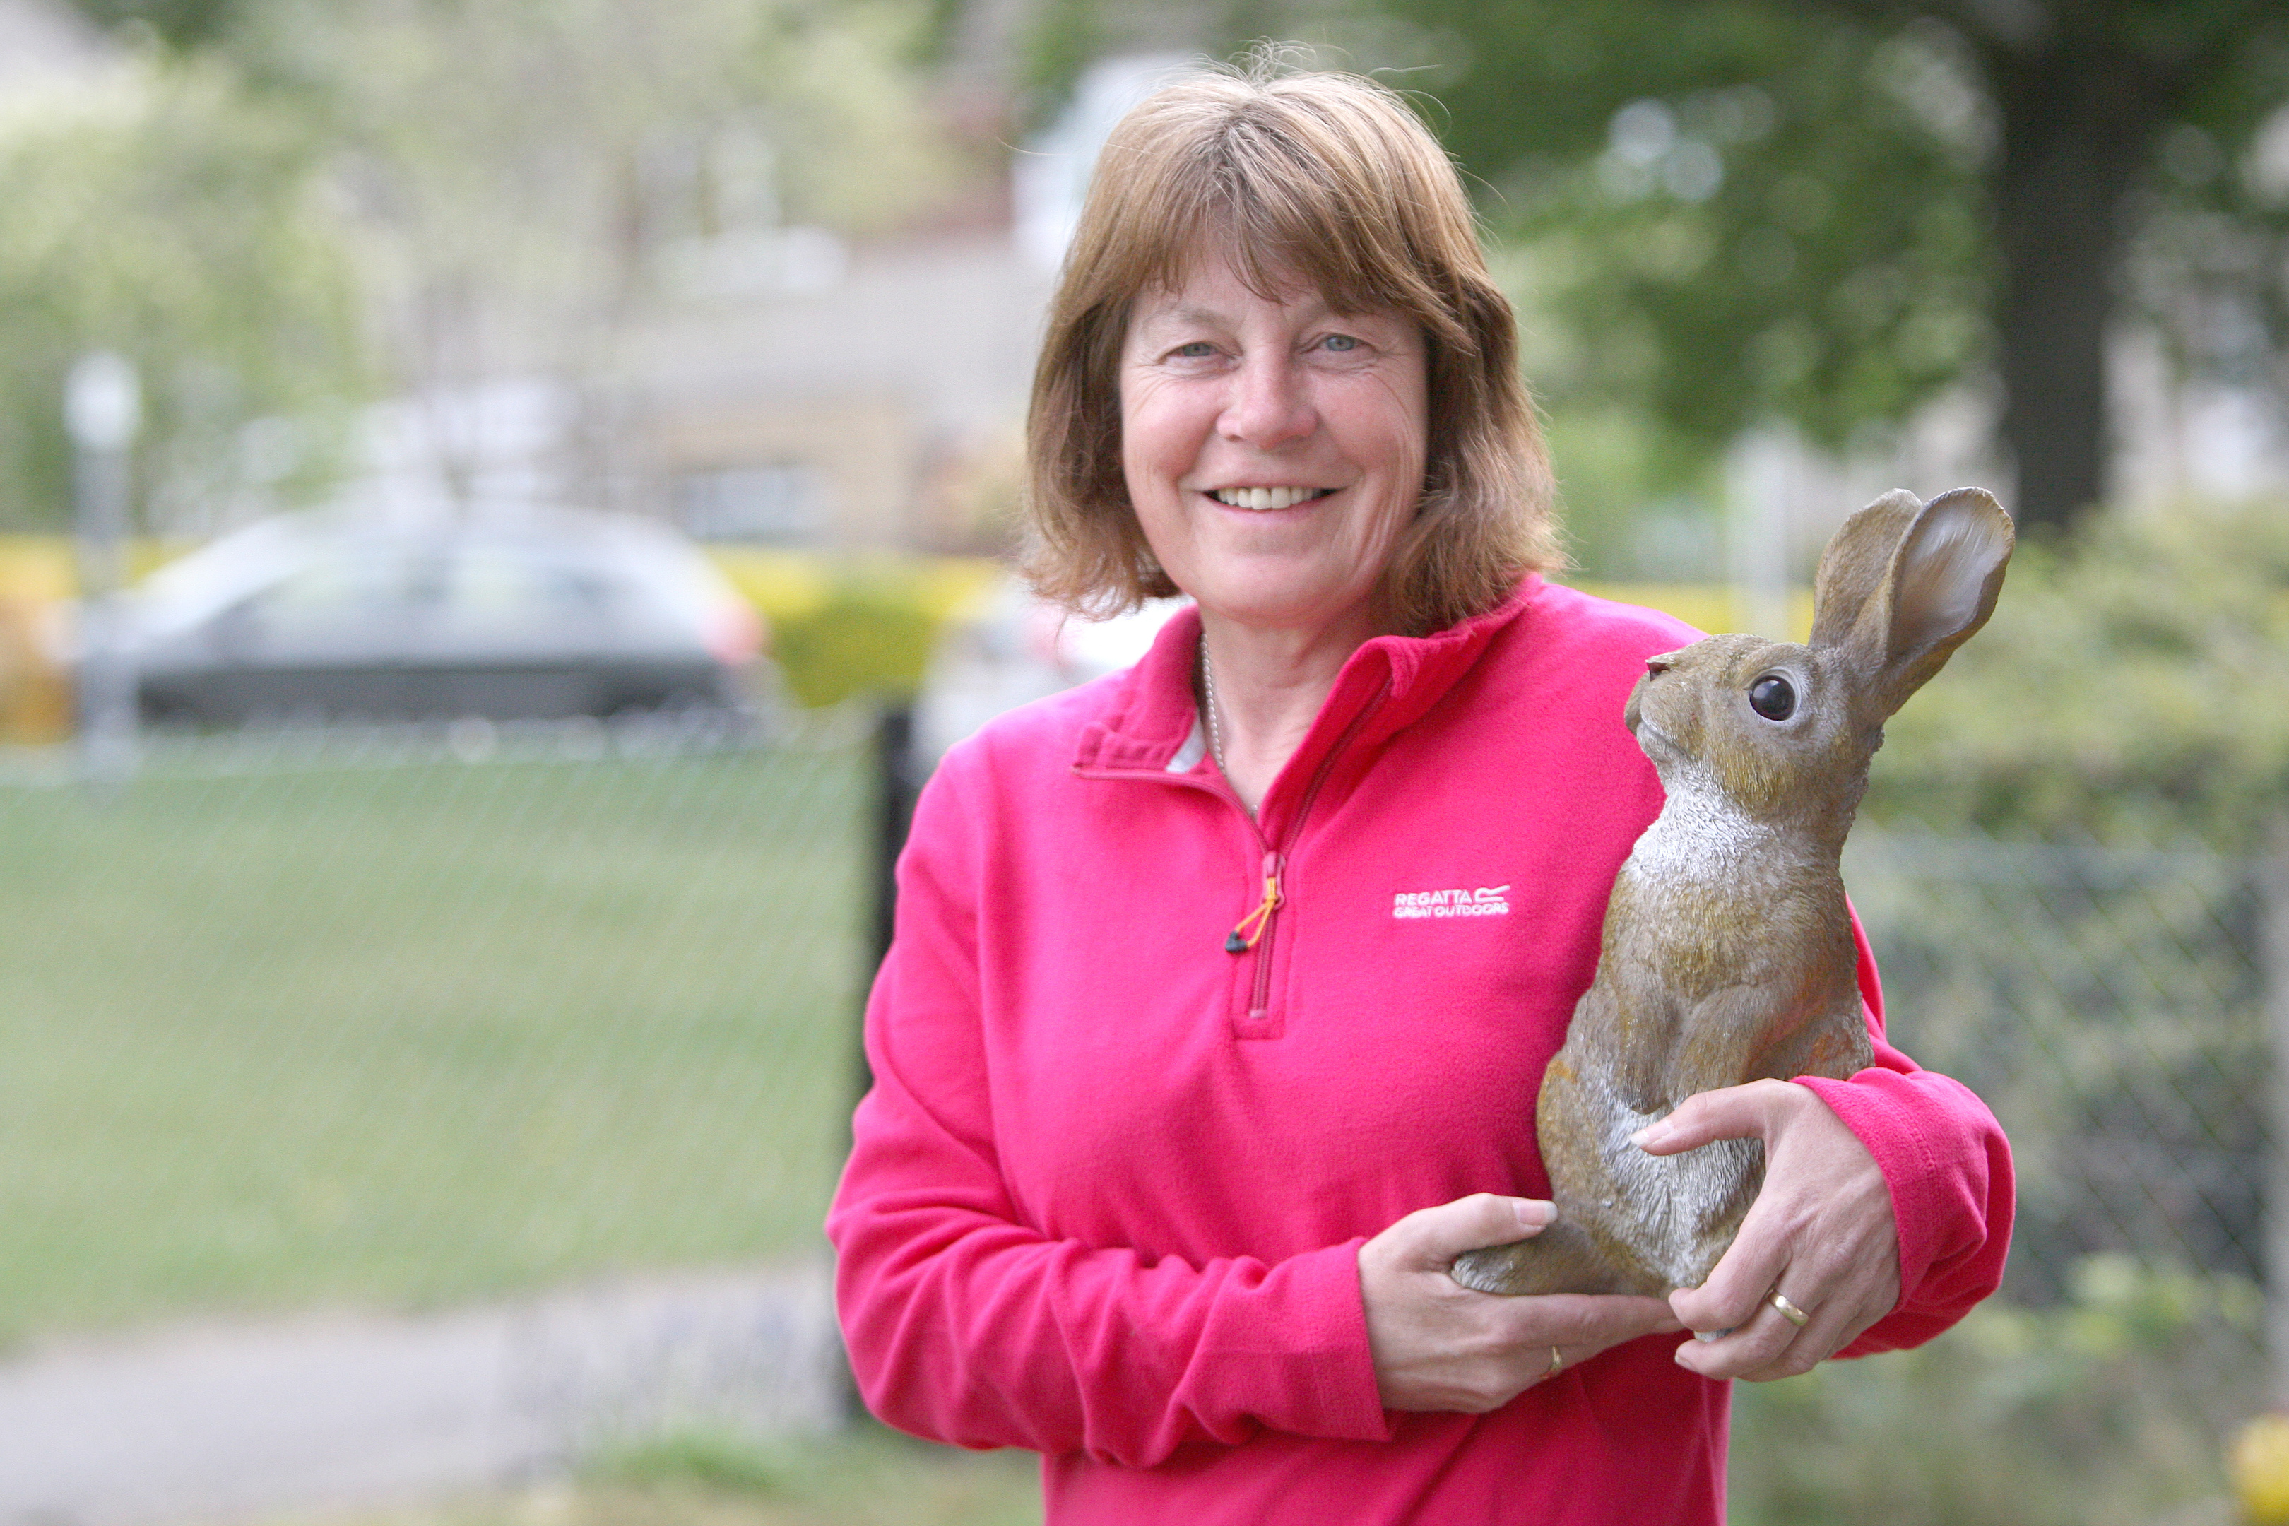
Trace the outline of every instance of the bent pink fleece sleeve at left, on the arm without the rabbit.
{"label": "bent pink fleece sleeve at left, on the arm without the rabbit", "polygon": [[980,1004],[975,814],[941,769],[900,858],[868,1002],[874,1087],[826,1233],[868,1407],[959,1446],[1151,1467],[1257,1430],[1385,1439],[1357,1247],[1190,1265],[1025,1222],[1000,1169]]}

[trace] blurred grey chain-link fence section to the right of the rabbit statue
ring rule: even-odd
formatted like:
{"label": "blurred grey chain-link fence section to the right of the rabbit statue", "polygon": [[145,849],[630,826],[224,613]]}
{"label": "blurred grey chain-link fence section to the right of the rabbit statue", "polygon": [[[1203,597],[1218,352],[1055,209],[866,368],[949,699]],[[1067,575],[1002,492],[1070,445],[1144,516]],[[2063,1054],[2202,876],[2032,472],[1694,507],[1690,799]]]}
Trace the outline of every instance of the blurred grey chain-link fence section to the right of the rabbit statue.
{"label": "blurred grey chain-link fence section to the right of the rabbit statue", "polygon": [[1847,860],[1893,1032],[2019,1165],[2010,1293],[2092,1254],[2257,1281],[2268,1059],[2246,860],[1863,830]]}

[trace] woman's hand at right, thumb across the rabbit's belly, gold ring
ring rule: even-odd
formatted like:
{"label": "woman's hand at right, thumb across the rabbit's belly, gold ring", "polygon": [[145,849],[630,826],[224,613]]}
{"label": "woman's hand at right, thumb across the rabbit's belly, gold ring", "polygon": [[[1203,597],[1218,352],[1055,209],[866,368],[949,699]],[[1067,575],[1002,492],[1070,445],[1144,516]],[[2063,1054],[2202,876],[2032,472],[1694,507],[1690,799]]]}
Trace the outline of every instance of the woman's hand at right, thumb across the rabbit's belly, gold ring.
{"label": "woman's hand at right, thumb across the rabbit's belly, gold ring", "polygon": [[[1900,1302],[1891,1187],[1820,1094],[1785,1080],[1689,1096],[1639,1146],[1676,1155],[1712,1139],[1763,1139],[1765,1187],[1708,1281],[1669,1295],[1687,1329],[1728,1332],[1680,1345],[1678,1366],[1749,1382],[1811,1373]],[[1774,1293],[1808,1316],[1801,1329]]]}

